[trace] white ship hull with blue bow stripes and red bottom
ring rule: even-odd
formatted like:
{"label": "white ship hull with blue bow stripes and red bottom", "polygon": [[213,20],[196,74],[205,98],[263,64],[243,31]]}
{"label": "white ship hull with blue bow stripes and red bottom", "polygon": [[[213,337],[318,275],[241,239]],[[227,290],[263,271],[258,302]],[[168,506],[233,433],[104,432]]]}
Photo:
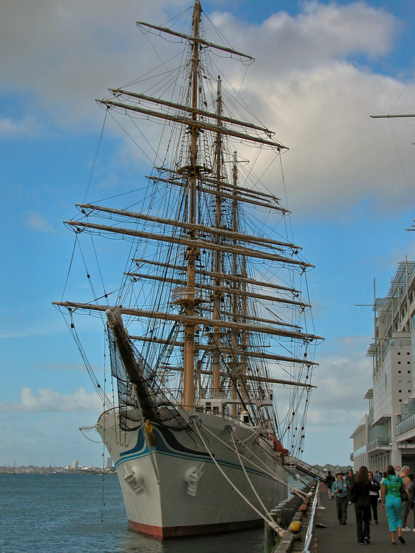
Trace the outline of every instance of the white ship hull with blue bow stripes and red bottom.
{"label": "white ship hull with blue bow stripes and red bottom", "polygon": [[120,432],[118,415],[113,411],[98,420],[97,430],[120,479],[130,527],[168,538],[246,529],[262,523],[249,504],[265,514],[252,488],[267,510],[287,497],[286,486],[271,476],[283,478],[272,448],[252,427],[232,422],[234,436],[245,441],[242,445],[236,440],[245,474],[234,451],[229,420],[217,415],[188,414],[200,419],[203,439],[231,483],[197,432],[173,432],[154,426],[157,445],[150,453],[143,429]]}

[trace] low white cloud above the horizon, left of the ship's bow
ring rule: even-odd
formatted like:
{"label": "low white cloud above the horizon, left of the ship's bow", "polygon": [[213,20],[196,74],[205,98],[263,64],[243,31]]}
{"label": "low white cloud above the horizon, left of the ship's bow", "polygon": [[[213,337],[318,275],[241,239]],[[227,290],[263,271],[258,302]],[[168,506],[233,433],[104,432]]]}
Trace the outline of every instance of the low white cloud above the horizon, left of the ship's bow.
{"label": "low white cloud above the horizon, left of the ship's bow", "polygon": [[77,388],[72,394],[61,394],[48,388],[39,388],[37,394],[28,387],[19,393],[19,403],[0,403],[0,409],[17,413],[70,413],[102,410],[98,395],[87,393],[85,388]]}

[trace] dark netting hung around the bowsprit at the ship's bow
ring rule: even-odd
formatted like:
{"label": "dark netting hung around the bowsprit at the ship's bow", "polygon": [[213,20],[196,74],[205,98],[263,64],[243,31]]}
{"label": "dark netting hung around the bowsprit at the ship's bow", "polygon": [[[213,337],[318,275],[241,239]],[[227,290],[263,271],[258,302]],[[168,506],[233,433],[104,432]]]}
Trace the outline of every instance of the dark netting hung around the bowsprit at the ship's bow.
{"label": "dark netting hung around the bowsprit at the ship's bow", "polygon": [[118,384],[121,429],[137,430],[142,424],[132,392],[132,384],[135,384],[136,397],[144,420],[149,419],[172,430],[191,432],[188,423],[160,389],[155,370],[139,353],[125,330],[118,325],[115,328],[108,325],[108,342],[111,374]]}

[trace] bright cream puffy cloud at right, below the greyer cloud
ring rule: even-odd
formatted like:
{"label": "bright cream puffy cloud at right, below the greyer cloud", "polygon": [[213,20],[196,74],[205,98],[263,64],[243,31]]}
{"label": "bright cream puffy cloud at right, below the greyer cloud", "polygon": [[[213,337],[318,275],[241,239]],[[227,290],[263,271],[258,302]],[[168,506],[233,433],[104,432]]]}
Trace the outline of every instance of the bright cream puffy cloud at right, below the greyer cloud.
{"label": "bright cream puffy cloud at right, below the greyer cloud", "polygon": [[[263,105],[275,121],[281,119],[278,135],[286,137],[291,149],[283,163],[296,211],[314,208],[327,215],[339,204],[350,207],[375,192],[389,208],[399,211],[407,205],[408,189],[393,144],[396,140],[402,164],[411,168],[409,133],[393,137],[385,121],[369,117],[388,111],[401,87],[333,62],[313,71],[292,71],[284,82],[274,81],[272,90],[262,89]],[[414,86],[408,91],[415,95]],[[284,111],[287,119],[278,116]],[[413,176],[407,173],[407,179]]]}

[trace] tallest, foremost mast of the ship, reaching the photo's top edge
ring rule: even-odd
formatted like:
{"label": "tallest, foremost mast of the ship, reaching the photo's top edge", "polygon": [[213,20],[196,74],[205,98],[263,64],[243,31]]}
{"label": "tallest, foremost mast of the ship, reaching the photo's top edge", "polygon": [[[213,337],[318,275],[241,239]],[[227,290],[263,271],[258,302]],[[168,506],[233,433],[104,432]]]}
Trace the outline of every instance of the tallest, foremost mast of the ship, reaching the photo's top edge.
{"label": "tallest, foremost mast of the ship, reaching the photo's top edge", "polygon": [[[200,23],[200,2],[195,0],[193,11],[193,36],[199,38]],[[191,69],[191,107],[198,108],[198,71],[199,71],[199,43],[193,42],[193,57]],[[191,120],[198,118],[195,111],[191,114]],[[196,222],[196,176],[197,176],[197,158],[198,158],[198,127],[190,127],[190,202],[189,202],[189,222]],[[190,229],[189,237],[195,239],[195,231]],[[187,301],[185,304],[186,315],[195,314],[195,263],[198,249],[194,246],[188,248],[188,275],[187,275]],[[194,351],[195,351],[195,325],[186,322],[184,325],[184,371],[183,371],[183,405],[185,409],[193,409],[194,404]]]}

